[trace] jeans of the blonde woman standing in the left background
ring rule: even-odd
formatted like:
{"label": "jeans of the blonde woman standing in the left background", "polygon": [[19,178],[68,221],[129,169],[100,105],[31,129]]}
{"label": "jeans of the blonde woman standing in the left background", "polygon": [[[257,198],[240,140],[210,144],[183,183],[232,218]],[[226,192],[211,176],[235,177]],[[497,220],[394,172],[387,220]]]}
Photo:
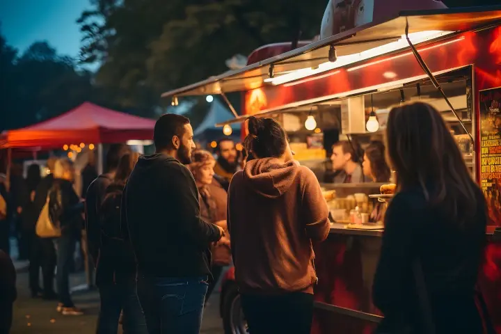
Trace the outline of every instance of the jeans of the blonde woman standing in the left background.
{"label": "jeans of the blonde woman standing in the left background", "polygon": [[55,239],[56,242],[56,287],[59,295],[59,302],[65,308],[74,306],[70,296],[70,269],[72,266],[76,240],[73,235],[63,234]]}

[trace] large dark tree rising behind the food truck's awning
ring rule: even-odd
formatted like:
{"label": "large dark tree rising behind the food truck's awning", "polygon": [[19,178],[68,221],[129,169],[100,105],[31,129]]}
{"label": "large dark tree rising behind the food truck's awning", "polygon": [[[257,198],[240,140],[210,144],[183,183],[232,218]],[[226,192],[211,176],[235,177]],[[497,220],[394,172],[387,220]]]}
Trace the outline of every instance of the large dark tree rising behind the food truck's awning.
{"label": "large dark tree rising behind the food truck's awning", "polygon": [[[82,15],[82,59],[123,106],[157,106],[161,92],[225,70],[225,60],[271,42],[313,38],[326,1],[97,0]],[[134,24],[131,24],[134,22]],[[117,87],[118,86],[118,87]],[[148,92],[148,93],[146,93]],[[168,102],[167,102],[168,103]],[[142,111],[145,114],[148,110]]]}

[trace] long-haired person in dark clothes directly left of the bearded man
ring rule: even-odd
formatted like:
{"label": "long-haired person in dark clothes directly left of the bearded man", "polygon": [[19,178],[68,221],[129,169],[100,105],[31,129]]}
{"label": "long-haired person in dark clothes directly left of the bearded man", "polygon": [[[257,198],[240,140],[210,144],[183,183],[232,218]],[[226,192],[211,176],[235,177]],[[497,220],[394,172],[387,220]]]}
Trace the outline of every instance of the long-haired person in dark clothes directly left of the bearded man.
{"label": "long-haired person in dark clothes directly left of the bearded man", "polygon": [[136,294],[136,260],[127,228],[120,221],[122,192],[138,158],[136,152],[120,158],[115,178],[106,188],[100,207],[101,243],[98,248],[96,283],[100,291],[101,308],[97,334],[116,334],[122,310],[124,333],[148,334]]}

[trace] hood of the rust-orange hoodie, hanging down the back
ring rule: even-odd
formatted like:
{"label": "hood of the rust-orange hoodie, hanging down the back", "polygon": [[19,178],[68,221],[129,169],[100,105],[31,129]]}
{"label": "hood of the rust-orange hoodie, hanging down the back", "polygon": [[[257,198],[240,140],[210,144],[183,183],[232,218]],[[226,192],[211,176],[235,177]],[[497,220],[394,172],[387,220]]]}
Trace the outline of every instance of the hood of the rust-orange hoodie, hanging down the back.
{"label": "hood of the rust-orange hoodie, hanging down the back", "polygon": [[294,161],[283,163],[276,158],[250,160],[244,168],[244,183],[264,197],[278,198],[294,184],[299,168]]}

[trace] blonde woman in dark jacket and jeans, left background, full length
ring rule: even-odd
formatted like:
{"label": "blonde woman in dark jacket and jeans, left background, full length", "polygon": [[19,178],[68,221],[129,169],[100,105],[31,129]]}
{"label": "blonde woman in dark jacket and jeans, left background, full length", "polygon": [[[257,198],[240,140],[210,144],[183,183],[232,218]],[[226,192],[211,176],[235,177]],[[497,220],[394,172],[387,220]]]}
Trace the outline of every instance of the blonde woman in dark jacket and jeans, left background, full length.
{"label": "blonde woman in dark jacket and jeans, left background, full length", "polygon": [[51,221],[61,226],[61,237],[54,239],[56,244],[57,271],[56,286],[59,296],[57,310],[62,315],[83,315],[76,308],[70,296],[70,268],[81,230],[81,213],[84,203],[80,201],[73,188],[74,170],[68,159],[58,159],[54,167],[54,182],[49,189],[49,212]]}

